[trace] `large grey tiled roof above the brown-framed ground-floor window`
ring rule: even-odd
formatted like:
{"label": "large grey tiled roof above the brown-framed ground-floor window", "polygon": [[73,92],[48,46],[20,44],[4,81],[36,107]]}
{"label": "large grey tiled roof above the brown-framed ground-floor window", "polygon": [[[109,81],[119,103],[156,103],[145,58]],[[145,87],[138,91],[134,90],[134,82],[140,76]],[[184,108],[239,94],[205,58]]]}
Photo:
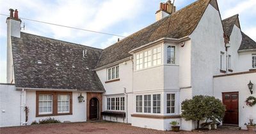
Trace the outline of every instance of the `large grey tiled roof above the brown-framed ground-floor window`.
{"label": "large grey tiled roof above the brown-framed ground-floor window", "polygon": [[12,37],[12,51],[17,87],[104,92],[93,70],[101,49],[21,33]]}

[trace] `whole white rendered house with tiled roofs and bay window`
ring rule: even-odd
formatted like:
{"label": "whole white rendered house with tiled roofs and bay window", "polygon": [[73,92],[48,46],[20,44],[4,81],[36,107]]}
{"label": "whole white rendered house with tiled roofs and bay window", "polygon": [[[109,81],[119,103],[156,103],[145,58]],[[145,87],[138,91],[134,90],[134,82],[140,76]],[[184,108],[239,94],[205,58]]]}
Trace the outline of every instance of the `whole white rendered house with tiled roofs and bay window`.
{"label": "whole white rendered house with tiled roofs and bay window", "polygon": [[[11,18],[10,21],[17,23],[20,21],[17,19]],[[253,114],[255,107],[248,108],[244,103],[250,96],[246,82],[256,82],[256,43],[241,32],[238,15],[222,20],[216,0],[198,0],[178,11],[171,1],[167,1],[160,4],[156,19],[154,24],[103,50],[20,34],[20,31],[17,31],[19,36],[10,34],[8,82],[14,85],[8,88],[26,98],[22,107],[30,107],[32,113],[28,124],[45,117],[76,122],[86,121],[92,116],[92,119],[131,123],[132,126],[156,130],[170,130],[170,122],[179,121],[182,130],[193,130],[196,123],[180,117],[180,103],[202,94],[220,98],[225,105],[232,101],[237,105],[236,110],[232,114],[227,112],[223,123],[246,129],[243,124],[248,118],[256,118],[256,113]],[[13,28],[10,26],[10,31]],[[49,57],[31,56],[41,52],[38,48],[43,52],[49,50]],[[81,59],[73,61],[72,58],[77,56]],[[29,58],[24,61],[20,57]],[[34,60],[36,64],[29,66],[22,60],[25,63]],[[24,66],[34,71],[20,69]],[[54,66],[53,72],[40,70],[47,70],[49,66]],[[78,78],[72,81],[69,76]],[[237,86],[230,89],[234,79]],[[6,86],[0,87],[1,95],[7,94],[3,88]],[[84,102],[79,103],[77,96],[80,93]],[[40,115],[39,96],[55,96],[56,99],[61,94],[69,96],[63,100],[70,103],[63,105],[69,108],[67,113],[58,114],[58,102],[50,99],[46,100],[52,102],[46,106],[52,109],[46,110],[50,114],[44,114],[43,110]],[[228,95],[234,98],[223,98]],[[255,92],[252,95],[255,96]],[[234,110],[234,107],[228,108],[228,111]],[[247,115],[248,111],[252,114]],[[4,114],[12,115],[1,112],[1,120]],[[20,115],[17,115],[20,123],[26,122],[24,116],[20,110]],[[1,123],[1,126],[19,124],[13,123]]]}

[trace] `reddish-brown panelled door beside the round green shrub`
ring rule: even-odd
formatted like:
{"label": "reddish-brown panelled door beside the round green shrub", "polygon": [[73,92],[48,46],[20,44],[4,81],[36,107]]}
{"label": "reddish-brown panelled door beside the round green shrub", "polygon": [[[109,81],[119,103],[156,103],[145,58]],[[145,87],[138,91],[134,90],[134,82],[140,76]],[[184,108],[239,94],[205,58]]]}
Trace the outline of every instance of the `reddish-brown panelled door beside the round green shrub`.
{"label": "reddish-brown panelled door beside the round green shrub", "polygon": [[223,124],[238,124],[238,92],[222,93],[223,104],[226,106]]}

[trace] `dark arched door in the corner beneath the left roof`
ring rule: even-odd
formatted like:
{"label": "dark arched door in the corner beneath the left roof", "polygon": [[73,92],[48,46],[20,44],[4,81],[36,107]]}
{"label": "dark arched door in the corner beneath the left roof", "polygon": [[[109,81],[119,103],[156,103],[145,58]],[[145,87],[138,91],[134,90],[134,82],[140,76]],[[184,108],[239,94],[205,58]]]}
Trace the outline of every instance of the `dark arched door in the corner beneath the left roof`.
{"label": "dark arched door in the corner beneath the left roof", "polygon": [[98,100],[92,98],[90,100],[90,119],[98,119]]}

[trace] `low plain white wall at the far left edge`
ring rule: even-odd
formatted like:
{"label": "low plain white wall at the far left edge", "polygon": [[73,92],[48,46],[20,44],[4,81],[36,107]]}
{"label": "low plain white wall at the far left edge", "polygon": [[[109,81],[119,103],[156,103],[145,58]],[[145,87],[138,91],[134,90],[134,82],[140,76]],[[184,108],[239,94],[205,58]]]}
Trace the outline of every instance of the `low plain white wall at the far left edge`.
{"label": "low plain white wall at the far left edge", "polygon": [[[0,85],[0,127],[20,126],[20,123],[25,122],[23,109],[20,121],[20,94],[21,91],[16,91],[14,85]],[[26,97],[25,94],[23,97]]]}

